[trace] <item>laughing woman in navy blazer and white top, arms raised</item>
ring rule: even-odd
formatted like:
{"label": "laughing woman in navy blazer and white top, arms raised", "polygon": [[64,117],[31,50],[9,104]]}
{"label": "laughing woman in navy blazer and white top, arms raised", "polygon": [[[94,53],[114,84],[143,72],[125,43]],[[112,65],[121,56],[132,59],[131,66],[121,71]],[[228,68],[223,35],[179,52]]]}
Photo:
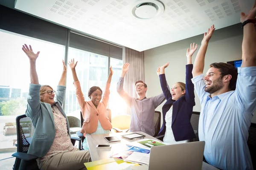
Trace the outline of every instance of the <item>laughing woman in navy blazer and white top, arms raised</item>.
{"label": "laughing woman in navy blazer and white top, arms raised", "polygon": [[160,77],[160,84],[166,103],[163,105],[163,125],[158,133],[158,138],[163,137],[163,142],[178,144],[189,142],[195,138],[195,133],[190,123],[193,107],[195,106],[194,84],[192,83],[192,55],[195,53],[197,45],[190,45],[187,49],[186,84],[176,82],[171,90],[167,88],[164,69],[169,62],[157,69]]}

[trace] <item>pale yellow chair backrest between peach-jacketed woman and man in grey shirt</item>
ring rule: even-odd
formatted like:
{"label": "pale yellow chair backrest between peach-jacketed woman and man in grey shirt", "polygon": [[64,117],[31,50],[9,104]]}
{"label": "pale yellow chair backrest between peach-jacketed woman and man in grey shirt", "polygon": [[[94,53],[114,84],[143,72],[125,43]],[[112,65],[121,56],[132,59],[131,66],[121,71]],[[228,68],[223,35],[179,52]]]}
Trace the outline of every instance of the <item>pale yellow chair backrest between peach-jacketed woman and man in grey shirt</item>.
{"label": "pale yellow chair backrest between peach-jacketed woman and man in grey shirt", "polygon": [[130,129],[131,116],[127,114],[117,115],[112,118],[112,127],[117,127],[121,130]]}

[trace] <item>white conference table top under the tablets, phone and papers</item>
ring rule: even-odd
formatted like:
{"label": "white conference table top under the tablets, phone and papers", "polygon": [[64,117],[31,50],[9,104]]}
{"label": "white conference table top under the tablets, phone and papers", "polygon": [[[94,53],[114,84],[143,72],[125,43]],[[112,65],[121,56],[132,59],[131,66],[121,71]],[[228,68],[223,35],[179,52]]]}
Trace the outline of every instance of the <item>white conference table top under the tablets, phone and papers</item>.
{"label": "white conference table top under the tablets, phone and papers", "polygon": [[[110,155],[118,153],[122,150],[122,146],[126,146],[126,144],[131,144],[131,142],[135,142],[141,139],[125,139],[122,138],[121,135],[129,134],[129,133],[140,133],[145,135],[145,139],[153,139],[159,142],[162,142],[144,132],[127,132],[127,133],[109,133],[109,134],[99,134],[99,135],[86,135],[86,140],[88,144],[88,148],[90,151],[90,156],[92,161],[99,161],[102,159],[108,159]],[[106,136],[117,136],[121,141],[119,142],[108,142],[104,137]],[[111,148],[96,148],[98,144],[111,144]],[[218,170],[210,164],[207,164],[203,161],[202,170]]]}

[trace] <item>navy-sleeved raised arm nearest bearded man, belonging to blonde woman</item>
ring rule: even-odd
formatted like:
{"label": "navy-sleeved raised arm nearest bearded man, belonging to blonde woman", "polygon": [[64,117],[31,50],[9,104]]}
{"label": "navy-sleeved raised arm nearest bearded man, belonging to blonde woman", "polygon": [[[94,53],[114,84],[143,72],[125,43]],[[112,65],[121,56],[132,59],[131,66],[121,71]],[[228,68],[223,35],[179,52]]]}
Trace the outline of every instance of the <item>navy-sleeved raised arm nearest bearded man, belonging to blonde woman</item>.
{"label": "navy-sleeved raised arm nearest bearded man, belonging to blonde woman", "polygon": [[195,45],[195,42],[190,44],[190,51],[189,48],[187,49],[186,52],[186,57],[187,57],[187,65],[186,65],[186,83],[185,83],[185,99],[186,102],[188,102],[190,105],[194,106],[195,105],[195,93],[194,93],[194,84],[192,83],[192,55],[195,53],[198,45]]}

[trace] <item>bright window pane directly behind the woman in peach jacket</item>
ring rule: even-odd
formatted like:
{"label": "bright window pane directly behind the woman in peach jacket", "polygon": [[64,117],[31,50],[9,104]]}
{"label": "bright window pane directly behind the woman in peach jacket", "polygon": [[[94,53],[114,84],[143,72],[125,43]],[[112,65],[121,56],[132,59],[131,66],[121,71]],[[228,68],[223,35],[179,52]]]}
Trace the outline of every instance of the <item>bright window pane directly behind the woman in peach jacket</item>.
{"label": "bright window pane directly behind the woman in peach jacket", "polygon": [[[79,79],[84,99],[89,101],[87,92],[92,86],[99,86],[104,91],[108,79],[108,57],[82,51],[76,48],[69,48],[68,61],[75,59],[76,74]],[[67,66],[69,67],[69,66]],[[65,112],[69,116],[80,118],[80,108],[76,99],[76,89],[73,85],[73,76],[68,68],[67,72],[67,91]]]}

